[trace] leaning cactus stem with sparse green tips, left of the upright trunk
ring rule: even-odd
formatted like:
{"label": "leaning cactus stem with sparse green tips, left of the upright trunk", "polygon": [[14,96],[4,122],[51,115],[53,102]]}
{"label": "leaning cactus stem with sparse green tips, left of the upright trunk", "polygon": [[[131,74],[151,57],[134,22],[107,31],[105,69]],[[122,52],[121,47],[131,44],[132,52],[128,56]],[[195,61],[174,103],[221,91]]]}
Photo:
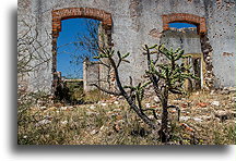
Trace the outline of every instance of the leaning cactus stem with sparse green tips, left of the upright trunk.
{"label": "leaning cactus stem with sparse green tips, left of the upright trunk", "polygon": [[[143,99],[143,95],[144,95],[144,88],[151,83],[148,82],[143,85],[139,84],[138,86],[133,86],[132,85],[132,77],[130,77],[130,85],[129,86],[125,86],[121,84],[120,82],[120,77],[119,77],[119,72],[118,72],[118,67],[120,65],[121,62],[127,62],[129,63],[129,61],[126,60],[127,57],[129,57],[129,52],[121,55],[121,53],[119,51],[117,51],[117,55],[118,55],[118,61],[116,63],[115,59],[114,59],[114,54],[115,51],[113,49],[99,49],[101,52],[98,53],[98,57],[94,57],[95,59],[98,60],[104,60],[107,59],[109,65],[114,69],[114,74],[116,77],[116,84],[118,87],[118,91],[111,91],[109,89],[105,89],[99,87],[96,84],[91,84],[92,86],[96,86],[99,90],[109,94],[109,95],[115,95],[115,96],[123,96],[125,99],[127,100],[127,102],[129,103],[130,108],[132,110],[135,111],[135,113],[144,121],[144,123],[146,123],[151,128],[156,129],[157,125],[148,117],[148,115],[144,113],[144,111],[148,110],[152,110],[153,114],[156,117],[155,111],[154,109],[143,109],[142,107],[142,99]],[[103,63],[104,65],[107,65],[105,63]],[[108,65],[107,65],[108,66]],[[129,91],[127,91],[126,89],[129,89]]]}

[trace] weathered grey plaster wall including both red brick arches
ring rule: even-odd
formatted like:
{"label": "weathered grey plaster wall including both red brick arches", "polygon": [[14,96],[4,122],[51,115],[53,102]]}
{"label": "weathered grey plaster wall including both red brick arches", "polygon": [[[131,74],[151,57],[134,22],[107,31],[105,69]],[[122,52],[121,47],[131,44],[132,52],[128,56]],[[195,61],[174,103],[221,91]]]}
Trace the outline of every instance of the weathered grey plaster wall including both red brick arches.
{"label": "weathered grey plaster wall including both red brick arches", "polygon": [[37,40],[49,42],[44,51],[51,58],[47,67],[43,63],[38,72],[26,76],[30,91],[51,91],[61,22],[74,17],[99,20],[114,49],[131,52],[131,63],[119,69],[123,84],[129,76],[134,84],[144,81],[146,60],[141,46],[165,44],[163,35],[169,32],[168,24],[182,22],[197,25],[205,88],[236,86],[236,0],[20,0],[19,33],[24,33],[23,20],[34,24]]}

